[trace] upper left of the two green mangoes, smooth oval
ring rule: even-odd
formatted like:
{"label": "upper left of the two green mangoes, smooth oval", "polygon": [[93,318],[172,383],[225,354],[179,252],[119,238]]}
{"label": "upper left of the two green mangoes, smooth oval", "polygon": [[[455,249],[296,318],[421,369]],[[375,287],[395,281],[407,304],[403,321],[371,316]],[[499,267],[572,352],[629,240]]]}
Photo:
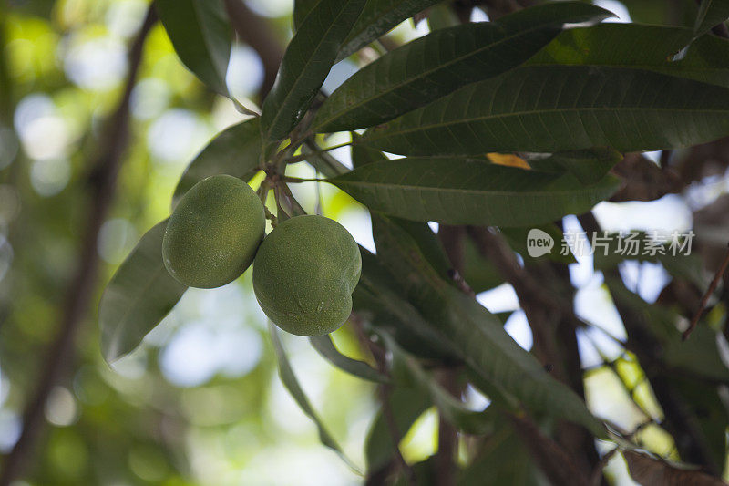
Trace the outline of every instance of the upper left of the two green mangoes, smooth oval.
{"label": "upper left of the two green mangoes, smooth oval", "polygon": [[263,204],[244,181],[215,175],[187,191],[169,217],[162,260],[189,287],[229,284],[251,266],[266,231]]}

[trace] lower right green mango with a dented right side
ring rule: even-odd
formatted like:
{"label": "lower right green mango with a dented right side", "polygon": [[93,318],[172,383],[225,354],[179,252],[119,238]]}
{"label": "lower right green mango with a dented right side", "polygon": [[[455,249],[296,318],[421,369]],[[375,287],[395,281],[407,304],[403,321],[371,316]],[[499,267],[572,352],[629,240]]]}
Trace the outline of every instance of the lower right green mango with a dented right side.
{"label": "lower right green mango with a dented right side", "polygon": [[253,290],[273,324],[297,336],[329,334],[349,318],[362,272],[359,246],[323,216],[281,222],[253,262]]}

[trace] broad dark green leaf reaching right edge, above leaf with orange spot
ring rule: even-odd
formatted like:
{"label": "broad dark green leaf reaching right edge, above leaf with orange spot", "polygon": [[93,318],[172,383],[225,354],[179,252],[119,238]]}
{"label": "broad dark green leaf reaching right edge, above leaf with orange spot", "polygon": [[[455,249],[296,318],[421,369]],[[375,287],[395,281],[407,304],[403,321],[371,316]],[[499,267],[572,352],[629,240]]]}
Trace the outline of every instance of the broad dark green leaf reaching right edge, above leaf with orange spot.
{"label": "broad dark green leaf reaching right edge, above leaf with orange spot", "polygon": [[638,69],[520,67],[369,129],[403,155],[690,147],[729,134],[729,89]]}

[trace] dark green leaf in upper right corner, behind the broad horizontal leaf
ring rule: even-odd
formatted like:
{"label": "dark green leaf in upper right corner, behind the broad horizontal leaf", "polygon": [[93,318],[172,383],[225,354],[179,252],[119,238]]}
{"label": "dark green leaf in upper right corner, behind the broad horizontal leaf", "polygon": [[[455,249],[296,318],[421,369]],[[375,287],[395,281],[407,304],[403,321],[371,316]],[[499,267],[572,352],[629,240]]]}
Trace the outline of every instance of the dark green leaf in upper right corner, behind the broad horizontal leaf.
{"label": "dark green leaf in upper right corner, behind the broad horizontal leaf", "polygon": [[562,32],[527,65],[635,67],[729,87],[727,39],[700,37],[680,59],[673,60],[692,36],[692,29],[673,26],[601,24],[575,28]]}

